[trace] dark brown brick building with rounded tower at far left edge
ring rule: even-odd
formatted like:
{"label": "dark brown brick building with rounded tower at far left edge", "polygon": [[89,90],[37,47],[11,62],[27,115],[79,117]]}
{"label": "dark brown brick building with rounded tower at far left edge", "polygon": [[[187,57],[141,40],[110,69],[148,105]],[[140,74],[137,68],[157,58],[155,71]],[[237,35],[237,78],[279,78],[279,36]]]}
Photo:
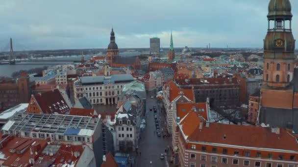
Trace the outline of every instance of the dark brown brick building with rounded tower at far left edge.
{"label": "dark brown brick building with rounded tower at far left edge", "polygon": [[28,103],[31,96],[29,76],[23,72],[15,81],[3,79],[0,81],[0,102],[3,108],[10,108],[20,103]]}

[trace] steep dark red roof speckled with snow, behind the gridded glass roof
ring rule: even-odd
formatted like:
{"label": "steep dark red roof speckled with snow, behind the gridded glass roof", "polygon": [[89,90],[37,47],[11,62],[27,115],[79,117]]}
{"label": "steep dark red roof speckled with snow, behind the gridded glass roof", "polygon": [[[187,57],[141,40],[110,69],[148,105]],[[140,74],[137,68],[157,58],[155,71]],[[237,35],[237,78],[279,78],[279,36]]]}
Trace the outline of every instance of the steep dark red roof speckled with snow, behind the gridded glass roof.
{"label": "steep dark red roof speckled with snow, behind the gridded glass roof", "polygon": [[69,106],[65,102],[63,96],[58,89],[34,95],[36,102],[40,106],[43,113],[65,114],[70,111]]}

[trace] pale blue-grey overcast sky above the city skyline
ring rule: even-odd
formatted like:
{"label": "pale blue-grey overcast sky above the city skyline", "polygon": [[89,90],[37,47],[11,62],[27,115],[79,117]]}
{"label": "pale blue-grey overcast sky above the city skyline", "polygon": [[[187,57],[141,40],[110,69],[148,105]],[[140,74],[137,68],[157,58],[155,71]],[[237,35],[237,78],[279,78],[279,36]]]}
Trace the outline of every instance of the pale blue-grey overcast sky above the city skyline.
{"label": "pale blue-grey overcast sky above the city skyline", "polygon": [[[0,48],[262,47],[269,0],[0,0]],[[298,39],[298,0],[291,0]]]}

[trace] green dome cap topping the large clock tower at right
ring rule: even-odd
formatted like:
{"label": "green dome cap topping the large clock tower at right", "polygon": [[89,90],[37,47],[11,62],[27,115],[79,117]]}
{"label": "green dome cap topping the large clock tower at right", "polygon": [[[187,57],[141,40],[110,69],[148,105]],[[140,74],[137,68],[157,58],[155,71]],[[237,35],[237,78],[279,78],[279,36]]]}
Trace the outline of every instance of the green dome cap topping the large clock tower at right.
{"label": "green dome cap topping the large clock tower at right", "polygon": [[291,10],[290,0],[270,0],[267,17],[271,20],[279,18],[291,20],[293,17]]}

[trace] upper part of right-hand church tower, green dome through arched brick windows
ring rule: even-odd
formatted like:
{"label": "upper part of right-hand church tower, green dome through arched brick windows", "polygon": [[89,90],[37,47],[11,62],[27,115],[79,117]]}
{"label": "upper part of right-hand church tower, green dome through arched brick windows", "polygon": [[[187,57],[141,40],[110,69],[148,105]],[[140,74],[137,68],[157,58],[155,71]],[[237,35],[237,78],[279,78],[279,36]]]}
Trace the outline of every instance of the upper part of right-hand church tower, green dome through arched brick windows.
{"label": "upper part of right-hand church tower, green dome through arched brick windows", "polygon": [[292,34],[292,13],[289,0],[269,3],[268,32],[264,40],[264,85],[282,88],[293,79],[296,56]]}

